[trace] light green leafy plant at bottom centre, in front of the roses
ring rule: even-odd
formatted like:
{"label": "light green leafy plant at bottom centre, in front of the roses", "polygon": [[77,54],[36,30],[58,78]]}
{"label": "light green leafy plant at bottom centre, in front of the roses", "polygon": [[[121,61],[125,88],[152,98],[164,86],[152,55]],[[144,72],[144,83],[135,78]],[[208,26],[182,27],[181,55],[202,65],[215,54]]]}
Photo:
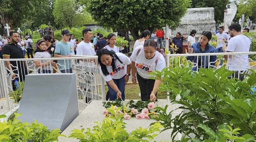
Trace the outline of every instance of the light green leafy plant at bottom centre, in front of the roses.
{"label": "light green leafy plant at bottom centre, in front of the roses", "polygon": [[80,142],[151,142],[158,134],[155,132],[161,132],[160,128],[163,128],[159,123],[155,123],[148,129],[142,129],[139,127],[131,133],[124,130],[125,124],[123,122],[123,115],[117,112],[121,108],[118,107],[116,110],[112,105],[108,108],[108,112],[111,112],[113,117],[104,118],[101,123],[95,122],[97,125],[93,127],[93,130],[87,128],[87,131],[83,128],[82,130],[73,130],[68,138],[76,138]]}

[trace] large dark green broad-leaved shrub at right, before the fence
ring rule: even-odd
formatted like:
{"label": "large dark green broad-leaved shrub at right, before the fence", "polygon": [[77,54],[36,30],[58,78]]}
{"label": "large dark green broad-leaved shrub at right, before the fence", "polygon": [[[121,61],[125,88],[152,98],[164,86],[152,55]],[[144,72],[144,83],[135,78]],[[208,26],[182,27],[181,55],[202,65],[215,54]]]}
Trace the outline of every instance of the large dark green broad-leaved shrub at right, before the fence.
{"label": "large dark green broad-leaved shrub at right, before the fence", "polygon": [[249,93],[256,83],[255,71],[250,70],[252,74],[246,74],[247,82],[242,82],[228,79],[235,71],[228,71],[224,66],[215,71],[202,68],[199,72],[179,66],[168,69],[150,74],[159,78],[164,75],[159,90],[171,92],[171,102],[183,105],[180,107],[183,112],[175,118],[166,117],[169,114],[160,108],[159,118],[153,118],[164,122],[161,124],[165,129],[173,129],[172,138],[180,132],[194,134],[202,140],[212,139],[214,135],[205,131],[211,129],[216,133],[223,124],[233,124],[241,129],[239,133],[255,136],[256,95]]}

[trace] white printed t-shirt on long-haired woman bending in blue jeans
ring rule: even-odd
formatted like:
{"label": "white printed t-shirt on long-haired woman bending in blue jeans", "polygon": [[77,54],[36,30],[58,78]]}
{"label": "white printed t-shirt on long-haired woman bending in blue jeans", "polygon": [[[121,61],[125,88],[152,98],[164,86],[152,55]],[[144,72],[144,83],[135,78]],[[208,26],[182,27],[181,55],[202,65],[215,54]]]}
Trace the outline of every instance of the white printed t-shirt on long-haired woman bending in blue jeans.
{"label": "white printed t-shirt on long-haired woman bending in blue jeans", "polygon": [[[126,71],[127,71],[126,65],[131,64],[131,59],[129,57],[127,57],[126,55],[124,55],[123,53],[116,53],[116,55],[123,62],[123,64],[122,64],[118,60],[115,60],[116,71],[113,71],[112,66],[106,66],[109,75],[105,76],[105,75],[103,75],[102,70],[100,68],[100,74],[107,82],[112,79],[120,79],[120,78],[124,77],[126,75]],[[113,62],[113,59],[112,59],[112,62]]]}

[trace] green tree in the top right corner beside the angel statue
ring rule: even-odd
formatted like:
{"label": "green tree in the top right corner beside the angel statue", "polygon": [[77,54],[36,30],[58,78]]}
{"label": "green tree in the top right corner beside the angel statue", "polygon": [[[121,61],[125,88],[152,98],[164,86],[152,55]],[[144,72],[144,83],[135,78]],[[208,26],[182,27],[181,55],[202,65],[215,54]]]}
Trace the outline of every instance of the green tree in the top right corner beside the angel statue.
{"label": "green tree in the top right corner beside the angel statue", "polygon": [[240,0],[237,5],[236,19],[239,20],[244,14],[244,18],[249,17],[251,20],[256,20],[256,0]]}

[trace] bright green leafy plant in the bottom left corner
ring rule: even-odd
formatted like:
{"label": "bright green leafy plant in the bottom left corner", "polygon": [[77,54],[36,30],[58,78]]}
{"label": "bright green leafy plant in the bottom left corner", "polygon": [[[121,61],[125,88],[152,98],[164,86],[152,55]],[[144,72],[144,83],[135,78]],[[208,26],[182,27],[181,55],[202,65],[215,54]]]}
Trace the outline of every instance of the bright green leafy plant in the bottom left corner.
{"label": "bright green leafy plant in the bottom left corner", "polygon": [[[21,114],[16,114],[13,121],[0,123],[0,142],[53,142],[58,137],[66,137],[60,134],[60,130],[48,130],[42,123],[21,123],[16,120]],[[1,115],[0,118],[5,118]]]}

